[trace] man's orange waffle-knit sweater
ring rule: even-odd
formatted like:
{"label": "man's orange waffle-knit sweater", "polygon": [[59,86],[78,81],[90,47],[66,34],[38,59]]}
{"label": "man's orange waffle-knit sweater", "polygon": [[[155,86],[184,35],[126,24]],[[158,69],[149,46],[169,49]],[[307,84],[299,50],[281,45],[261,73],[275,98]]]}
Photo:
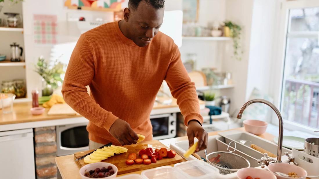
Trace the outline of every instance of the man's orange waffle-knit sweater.
{"label": "man's orange waffle-knit sweater", "polygon": [[62,93],[66,103],[89,120],[90,140],[119,144],[108,132],[118,118],[151,140],[149,118],[163,80],[177,99],[185,125],[192,119],[202,123],[194,83],[173,39],[158,32],[148,46],[138,47],[123,35],[115,21],[85,32],[78,39]]}

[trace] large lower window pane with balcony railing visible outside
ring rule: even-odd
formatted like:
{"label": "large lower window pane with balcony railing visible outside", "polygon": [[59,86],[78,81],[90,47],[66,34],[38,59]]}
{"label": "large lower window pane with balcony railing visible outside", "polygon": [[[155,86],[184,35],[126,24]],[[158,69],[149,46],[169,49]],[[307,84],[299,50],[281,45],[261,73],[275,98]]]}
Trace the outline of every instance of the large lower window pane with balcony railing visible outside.
{"label": "large lower window pane with balcony railing visible outside", "polygon": [[318,39],[288,38],[282,92],[283,118],[318,128],[318,94]]}

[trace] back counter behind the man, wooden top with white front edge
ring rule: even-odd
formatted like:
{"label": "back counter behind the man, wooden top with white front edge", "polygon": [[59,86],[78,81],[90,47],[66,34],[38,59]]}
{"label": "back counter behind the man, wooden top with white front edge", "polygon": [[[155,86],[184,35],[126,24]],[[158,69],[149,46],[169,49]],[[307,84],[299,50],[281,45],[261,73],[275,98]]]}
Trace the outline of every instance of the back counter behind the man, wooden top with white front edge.
{"label": "back counter behind the man, wooden top with white front edge", "polygon": [[[200,108],[205,107],[204,101],[199,101]],[[25,128],[44,127],[52,125],[66,125],[72,123],[86,122],[87,119],[81,115],[54,115],[49,116],[49,109],[45,109],[41,115],[32,115],[30,109],[31,102],[14,103],[13,112],[9,114],[0,115],[0,131],[17,130]],[[179,112],[176,99],[173,99],[170,105],[156,104],[151,111],[151,115],[163,113]]]}

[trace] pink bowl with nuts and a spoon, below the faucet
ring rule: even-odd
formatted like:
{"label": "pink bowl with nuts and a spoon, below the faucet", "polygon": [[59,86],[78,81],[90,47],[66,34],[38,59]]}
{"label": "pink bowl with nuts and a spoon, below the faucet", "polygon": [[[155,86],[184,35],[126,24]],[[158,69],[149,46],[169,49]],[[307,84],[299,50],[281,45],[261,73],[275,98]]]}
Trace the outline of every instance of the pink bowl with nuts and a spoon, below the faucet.
{"label": "pink bowl with nuts and a spoon, below the faucet", "polygon": [[[277,179],[305,179],[308,175],[307,171],[299,166],[288,163],[272,163],[267,169],[277,176]],[[284,175],[287,176],[284,176]]]}

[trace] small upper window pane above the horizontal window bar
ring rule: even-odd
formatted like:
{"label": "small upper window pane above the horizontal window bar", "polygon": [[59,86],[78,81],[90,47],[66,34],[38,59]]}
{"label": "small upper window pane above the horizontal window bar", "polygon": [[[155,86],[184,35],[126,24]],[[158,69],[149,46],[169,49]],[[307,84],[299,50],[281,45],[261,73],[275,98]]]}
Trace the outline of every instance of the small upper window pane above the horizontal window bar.
{"label": "small upper window pane above the horizontal window bar", "polygon": [[319,7],[292,9],[289,31],[319,31]]}

